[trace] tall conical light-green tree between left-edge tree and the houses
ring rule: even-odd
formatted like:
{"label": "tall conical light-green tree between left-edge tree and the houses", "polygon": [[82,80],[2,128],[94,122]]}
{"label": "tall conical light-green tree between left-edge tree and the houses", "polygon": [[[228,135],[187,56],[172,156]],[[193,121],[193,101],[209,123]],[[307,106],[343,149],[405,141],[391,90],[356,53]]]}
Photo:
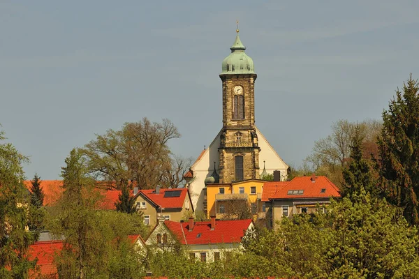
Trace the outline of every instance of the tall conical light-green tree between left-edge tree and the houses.
{"label": "tall conical light-green tree between left-edge tree and the houses", "polygon": [[52,232],[64,238],[64,248],[57,260],[60,278],[92,278],[105,269],[102,255],[105,241],[101,237],[100,220],[96,214],[99,193],[95,181],[87,176],[87,169],[78,150],[73,149],[62,168],[63,197]]}

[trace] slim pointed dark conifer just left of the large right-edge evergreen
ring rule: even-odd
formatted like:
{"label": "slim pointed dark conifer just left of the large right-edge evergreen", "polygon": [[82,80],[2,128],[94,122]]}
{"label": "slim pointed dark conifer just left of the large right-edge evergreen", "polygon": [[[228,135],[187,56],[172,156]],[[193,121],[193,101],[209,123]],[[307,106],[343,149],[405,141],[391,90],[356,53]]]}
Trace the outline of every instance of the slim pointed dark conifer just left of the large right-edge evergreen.
{"label": "slim pointed dark conifer just left of the large right-edge evergreen", "polygon": [[362,158],[362,136],[360,126],[355,126],[351,140],[351,162],[344,168],[344,190],[342,196],[352,197],[355,193],[360,193],[364,188],[370,193],[376,190],[372,186],[372,175],[367,160]]}

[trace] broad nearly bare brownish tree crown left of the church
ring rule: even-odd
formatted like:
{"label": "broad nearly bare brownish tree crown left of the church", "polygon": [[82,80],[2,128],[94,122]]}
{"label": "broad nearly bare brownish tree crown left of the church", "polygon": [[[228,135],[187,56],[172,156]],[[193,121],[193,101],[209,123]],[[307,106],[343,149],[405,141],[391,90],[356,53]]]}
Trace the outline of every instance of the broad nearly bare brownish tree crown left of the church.
{"label": "broad nearly bare brownish tree crown left of the church", "polygon": [[115,181],[122,189],[129,181],[138,188],[176,188],[183,180],[189,165],[182,158],[172,156],[168,142],[180,137],[177,128],[168,119],[152,123],[147,118],[135,123],[125,123],[121,130],[108,130],[96,135],[84,146],[89,172],[96,179]]}

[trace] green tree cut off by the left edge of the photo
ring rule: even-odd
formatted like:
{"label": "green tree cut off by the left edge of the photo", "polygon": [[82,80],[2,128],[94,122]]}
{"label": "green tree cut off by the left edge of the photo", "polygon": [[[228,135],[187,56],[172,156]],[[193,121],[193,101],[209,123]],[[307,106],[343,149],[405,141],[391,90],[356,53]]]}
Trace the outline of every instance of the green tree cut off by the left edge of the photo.
{"label": "green tree cut off by the left edge of the photo", "polygon": [[24,162],[27,158],[12,144],[0,144],[0,278],[26,278],[34,266],[27,259],[36,235],[27,231],[31,204],[23,184]]}

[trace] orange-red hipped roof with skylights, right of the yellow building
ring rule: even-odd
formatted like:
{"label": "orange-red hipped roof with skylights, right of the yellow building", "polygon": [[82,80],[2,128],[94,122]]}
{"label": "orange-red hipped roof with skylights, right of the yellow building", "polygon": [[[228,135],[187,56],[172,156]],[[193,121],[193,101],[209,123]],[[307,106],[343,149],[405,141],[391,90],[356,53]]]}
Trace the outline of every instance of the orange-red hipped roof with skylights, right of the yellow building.
{"label": "orange-red hipped roof with skylights, right of the yellow building", "polygon": [[[324,192],[322,193],[322,189]],[[288,190],[303,190],[302,195],[288,195]],[[306,199],[340,197],[339,189],[326,176],[299,176],[289,181],[284,187],[278,189],[270,199]]]}

